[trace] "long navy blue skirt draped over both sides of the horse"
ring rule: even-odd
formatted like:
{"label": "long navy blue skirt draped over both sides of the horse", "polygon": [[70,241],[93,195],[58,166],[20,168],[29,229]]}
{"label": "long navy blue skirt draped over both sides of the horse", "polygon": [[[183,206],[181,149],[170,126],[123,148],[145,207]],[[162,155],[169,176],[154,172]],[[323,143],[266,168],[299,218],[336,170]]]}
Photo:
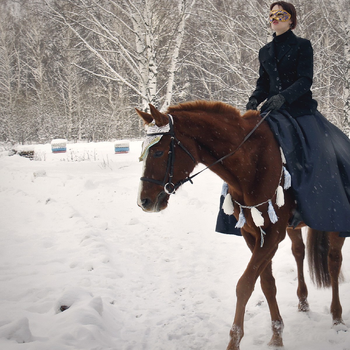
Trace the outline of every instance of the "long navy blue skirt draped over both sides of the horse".
{"label": "long navy blue skirt draped over both sides of the horse", "polygon": [[[262,113],[264,116],[266,113]],[[322,114],[293,118],[285,110],[265,119],[285,155],[297,209],[292,219],[320,231],[350,237],[350,139]],[[240,235],[236,219],[222,209],[216,231]]]}

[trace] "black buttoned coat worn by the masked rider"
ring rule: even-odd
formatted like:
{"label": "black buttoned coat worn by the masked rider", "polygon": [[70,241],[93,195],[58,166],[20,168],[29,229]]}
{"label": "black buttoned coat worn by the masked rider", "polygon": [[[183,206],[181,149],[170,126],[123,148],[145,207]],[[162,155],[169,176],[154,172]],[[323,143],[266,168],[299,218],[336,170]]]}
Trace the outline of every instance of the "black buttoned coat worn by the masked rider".
{"label": "black buttoned coat worn by the masked rider", "polygon": [[[317,102],[312,98],[314,55],[309,40],[297,37],[292,30],[285,36],[278,56],[275,57],[275,41],[259,51],[259,78],[251,95],[258,105],[279,93],[286,99],[285,108],[292,117],[314,114]],[[266,103],[260,111],[266,110]]]}

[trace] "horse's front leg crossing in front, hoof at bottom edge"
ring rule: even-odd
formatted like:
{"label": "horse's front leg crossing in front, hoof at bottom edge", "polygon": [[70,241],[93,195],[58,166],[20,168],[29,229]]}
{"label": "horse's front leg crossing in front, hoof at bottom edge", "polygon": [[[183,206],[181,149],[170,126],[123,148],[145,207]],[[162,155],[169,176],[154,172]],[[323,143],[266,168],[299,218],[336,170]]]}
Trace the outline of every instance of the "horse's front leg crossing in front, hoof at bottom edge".
{"label": "horse's front leg crossing in front, hoof at bottom edge", "polygon": [[[253,293],[255,282],[258,276],[264,271],[267,265],[271,264],[271,259],[274,256],[278,244],[285,236],[285,229],[281,234],[274,231],[274,233],[269,232],[266,234],[265,243],[260,247],[260,234],[257,234],[255,238],[256,242],[254,244],[252,257],[245,269],[243,275],[237,282],[236,287],[236,312],[235,319],[233,321],[232,328],[230,330],[230,342],[227,350],[239,350],[239,343],[244,335],[243,321],[246,304]],[[242,230],[243,236],[247,240],[251,240],[250,234]]]}

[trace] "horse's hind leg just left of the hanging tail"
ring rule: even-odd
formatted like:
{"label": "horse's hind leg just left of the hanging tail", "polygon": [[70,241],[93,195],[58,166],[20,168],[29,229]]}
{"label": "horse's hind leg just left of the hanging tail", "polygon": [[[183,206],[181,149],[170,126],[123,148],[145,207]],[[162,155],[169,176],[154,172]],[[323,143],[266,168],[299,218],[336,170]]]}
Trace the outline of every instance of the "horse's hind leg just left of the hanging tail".
{"label": "horse's hind leg just left of the hanging tail", "polygon": [[298,271],[298,289],[296,294],[299,298],[298,310],[302,312],[309,311],[309,303],[307,302],[307,287],[304,280],[304,258],[305,245],[301,235],[301,229],[287,228],[287,233],[292,241],[292,253],[296,261]]}

